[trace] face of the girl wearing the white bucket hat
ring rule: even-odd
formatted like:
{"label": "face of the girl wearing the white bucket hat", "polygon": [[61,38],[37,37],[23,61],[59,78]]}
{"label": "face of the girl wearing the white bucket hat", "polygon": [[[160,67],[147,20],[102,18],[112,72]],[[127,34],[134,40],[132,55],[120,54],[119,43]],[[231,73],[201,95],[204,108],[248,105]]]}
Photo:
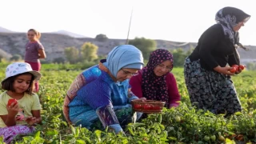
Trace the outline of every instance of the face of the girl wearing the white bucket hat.
{"label": "face of the girl wearing the white bucket hat", "polygon": [[14,91],[15,93],[22,94],[30,87],[30,82],[32,80],[31,74],[19,75],[14,80]]}

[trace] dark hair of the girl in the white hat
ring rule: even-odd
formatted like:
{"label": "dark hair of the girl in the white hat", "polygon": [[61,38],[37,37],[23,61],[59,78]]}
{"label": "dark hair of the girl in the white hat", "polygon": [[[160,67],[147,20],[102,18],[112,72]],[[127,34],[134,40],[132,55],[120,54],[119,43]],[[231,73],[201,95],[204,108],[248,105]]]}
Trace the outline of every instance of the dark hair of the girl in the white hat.
{"label": "dark hair of the girl in the white hat", "polygon": [[[29,72],[27,73],[22,73],[22,74],[18,74],[18,75],[15,75],[13,77],[10,77],[10,78],[7,78],[5,81],[2,82],[2,89],[3,90],[10,90],[10,91],[13,91],[15,92],[14,90],[14,81],[15,79],[20,76],[20,75],[23,75],[23,74],[31,74]],[[33,90],[34,90],[34,75],[31,74],[31,81],[30,81],[30,86],[29,88],[25,91],[27,94],[33,94]]]}

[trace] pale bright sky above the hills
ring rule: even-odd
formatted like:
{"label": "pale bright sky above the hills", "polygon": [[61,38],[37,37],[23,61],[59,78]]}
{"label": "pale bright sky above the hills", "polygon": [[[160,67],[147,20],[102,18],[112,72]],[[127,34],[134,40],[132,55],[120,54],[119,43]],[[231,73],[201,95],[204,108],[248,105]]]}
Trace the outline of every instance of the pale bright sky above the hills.
{"label": "pale bright sky above the hills", "polygon": [[253,0],[0,0],[0,26],[26,32],[67,30],[94,38],[145,37],[198,42],[212,26],[215,14],[234,6],[251,15],[240,30],[240,42],[256,46],[256,10]]}

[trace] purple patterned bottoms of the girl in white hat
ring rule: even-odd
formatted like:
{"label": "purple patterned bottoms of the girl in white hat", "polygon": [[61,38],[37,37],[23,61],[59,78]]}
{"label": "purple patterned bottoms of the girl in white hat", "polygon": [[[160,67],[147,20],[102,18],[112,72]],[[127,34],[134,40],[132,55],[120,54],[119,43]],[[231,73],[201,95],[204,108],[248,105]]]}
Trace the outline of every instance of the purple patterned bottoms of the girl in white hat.
{"label": "purple patterned bottoms of the girl in white hat", "polygon": [[9,144],[18,134],[30,134],[34,130],[33,126],[8,126],[0,128],[0,136],[3,136],[4,142]]}

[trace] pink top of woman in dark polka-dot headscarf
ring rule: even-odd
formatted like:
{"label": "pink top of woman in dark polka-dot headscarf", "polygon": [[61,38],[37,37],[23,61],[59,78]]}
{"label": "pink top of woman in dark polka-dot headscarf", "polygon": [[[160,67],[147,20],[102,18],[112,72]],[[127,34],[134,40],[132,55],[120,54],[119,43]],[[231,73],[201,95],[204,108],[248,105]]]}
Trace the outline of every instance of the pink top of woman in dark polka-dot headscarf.
{"label": "pink top of woman in dark polka-dot headscarf", "polygon": [[[168,89],[170,107],[176,107],[179,105],[178,101],[181,100],[181,96],[178,93],[178,86],[174,74],[166,75],[166,85]],[[142,70],[138,72],[138,75],[130,78],[131,91],[138,97],[142,98]]]}

